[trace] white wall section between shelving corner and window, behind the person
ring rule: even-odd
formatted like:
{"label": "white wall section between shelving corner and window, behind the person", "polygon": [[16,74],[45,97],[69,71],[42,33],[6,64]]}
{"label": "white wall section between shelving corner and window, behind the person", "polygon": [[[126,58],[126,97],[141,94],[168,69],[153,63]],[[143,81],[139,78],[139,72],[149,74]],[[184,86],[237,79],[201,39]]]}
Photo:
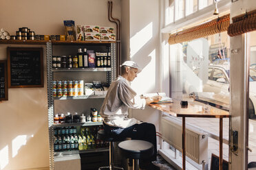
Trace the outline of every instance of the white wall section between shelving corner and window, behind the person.
{"label": "white wall section between shelving corner and window, behind the person", "polygon": [[[160,1],[130,0],[130,59],[142,72],[131,86],[138,95],[160,90]],[[158,130],[160,112],[152,108],[133,110],[136,119],[154,123]]]}

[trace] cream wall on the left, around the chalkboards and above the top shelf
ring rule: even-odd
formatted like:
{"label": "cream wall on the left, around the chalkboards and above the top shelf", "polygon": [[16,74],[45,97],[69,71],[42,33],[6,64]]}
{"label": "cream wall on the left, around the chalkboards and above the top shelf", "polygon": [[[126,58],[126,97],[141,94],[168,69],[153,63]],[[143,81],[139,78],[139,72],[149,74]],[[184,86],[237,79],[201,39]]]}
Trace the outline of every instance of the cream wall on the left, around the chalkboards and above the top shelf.
{"label": "cream wall on the left, around the chalkboards and above the top shelf", "polygon": [[[120,19],[120,1],[113,3],[113,16]],[[19,27],[29,27],[36,34],[64,34],[63,20],[68,19],[115,27],[107,19],[107,0],[1,0],[0,27],[12,35]],[[6,47],[13,46],[0,45],[0,60],[7,59]],[[0,103],[1,170],[49,167],[45,50],[44,78],[44,88],[9,89],[8,101]]]}

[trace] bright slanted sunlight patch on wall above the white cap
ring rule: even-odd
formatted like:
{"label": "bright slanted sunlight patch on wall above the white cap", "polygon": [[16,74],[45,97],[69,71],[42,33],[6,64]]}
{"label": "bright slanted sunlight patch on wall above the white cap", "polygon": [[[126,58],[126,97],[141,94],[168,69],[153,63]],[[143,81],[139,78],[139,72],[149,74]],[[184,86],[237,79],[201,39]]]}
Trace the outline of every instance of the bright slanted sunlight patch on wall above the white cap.
{"label": "bright slanted sunlight patch on wall above the white cap", "polygon": [[153,36],[153,23],[149,23],[146,27],[136,33],[130,39],[131,44],[131,58],[152,38]]}

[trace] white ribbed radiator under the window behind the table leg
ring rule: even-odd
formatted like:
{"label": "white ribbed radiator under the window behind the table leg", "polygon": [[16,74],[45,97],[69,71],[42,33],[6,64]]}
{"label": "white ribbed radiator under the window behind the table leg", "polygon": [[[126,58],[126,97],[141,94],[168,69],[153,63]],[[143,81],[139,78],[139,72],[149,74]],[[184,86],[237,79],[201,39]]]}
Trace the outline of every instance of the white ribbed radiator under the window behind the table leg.
{"label": "white ribbed radiator under the window behind the table leg", "polygon": [[[171,117],[162,117],[162,139],[175,149],[182,151],[182,121]],[[187,124],[186,156],[198,164],[208,162],[208,136]]]}

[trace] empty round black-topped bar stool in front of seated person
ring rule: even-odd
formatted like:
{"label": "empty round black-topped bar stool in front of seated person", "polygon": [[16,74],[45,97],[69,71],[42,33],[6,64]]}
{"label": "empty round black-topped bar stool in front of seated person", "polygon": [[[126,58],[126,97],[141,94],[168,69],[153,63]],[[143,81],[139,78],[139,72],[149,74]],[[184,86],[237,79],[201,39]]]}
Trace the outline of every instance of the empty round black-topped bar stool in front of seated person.
{"label": "empty round black-topped bar stool in front of seated person", "polygon": [[148,159],[153,156],[153,144],[147,141],[128,140],[118,144],[121,153],[133,159],[133,170],[139,169],[139,159]]}

